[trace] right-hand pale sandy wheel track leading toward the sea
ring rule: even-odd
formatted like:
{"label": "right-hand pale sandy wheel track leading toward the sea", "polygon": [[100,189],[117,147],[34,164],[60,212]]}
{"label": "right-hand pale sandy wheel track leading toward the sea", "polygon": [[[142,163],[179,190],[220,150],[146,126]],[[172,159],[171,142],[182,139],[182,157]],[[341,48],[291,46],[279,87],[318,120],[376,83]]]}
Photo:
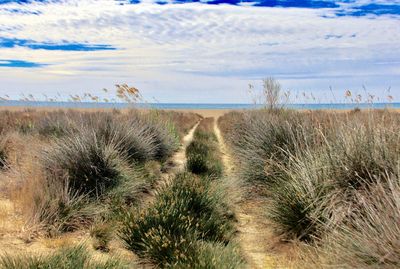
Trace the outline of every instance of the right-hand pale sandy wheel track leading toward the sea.
{"label": "right-hand pale sandy wheel track leading toward the sea", "polygon": [[[231,155],[217,121],[214,122],[214,132],[218,138],[226,176],[234,178],[235,169]],[[274,236],[271,225],[263,217],[265,203],[266,200],[259,196],[246,197],[235,209],[238,220],[237,237],[248,268],[291,268],[286,258],[279,254],[279,240]]]}

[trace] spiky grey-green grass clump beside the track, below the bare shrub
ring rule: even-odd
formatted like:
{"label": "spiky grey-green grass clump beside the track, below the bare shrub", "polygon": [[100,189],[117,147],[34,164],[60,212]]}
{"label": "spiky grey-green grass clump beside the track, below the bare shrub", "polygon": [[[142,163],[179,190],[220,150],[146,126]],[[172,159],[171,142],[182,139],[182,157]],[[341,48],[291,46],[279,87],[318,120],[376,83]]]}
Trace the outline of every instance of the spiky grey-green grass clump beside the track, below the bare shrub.
{"label": "spiky grey-green grass clump beside the track, below the bare shrub", "polygon": [[[302,124],[300,124],[300,122]],[[302,116],[291,111],[246,112],[243,119],[227,134],[240,165],[240,176],[248,181],[273,183],[279,169],[267,163],[285,164],[293,152],[311,134]]]}

